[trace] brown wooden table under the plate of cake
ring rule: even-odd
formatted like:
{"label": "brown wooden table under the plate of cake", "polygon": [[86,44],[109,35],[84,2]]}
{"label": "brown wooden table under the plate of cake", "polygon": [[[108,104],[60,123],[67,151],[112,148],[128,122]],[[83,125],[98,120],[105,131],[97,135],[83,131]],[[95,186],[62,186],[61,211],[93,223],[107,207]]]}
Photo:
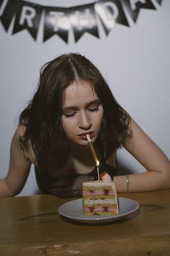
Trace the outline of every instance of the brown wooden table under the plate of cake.
{"label": "brown wooden table under the plate of cake", "polygon": [[170,189],[119,197],[138,201],[139,210],[102,225],[63,220],[58,207],[71,198],[2,198],[0,255],[170,255]]}

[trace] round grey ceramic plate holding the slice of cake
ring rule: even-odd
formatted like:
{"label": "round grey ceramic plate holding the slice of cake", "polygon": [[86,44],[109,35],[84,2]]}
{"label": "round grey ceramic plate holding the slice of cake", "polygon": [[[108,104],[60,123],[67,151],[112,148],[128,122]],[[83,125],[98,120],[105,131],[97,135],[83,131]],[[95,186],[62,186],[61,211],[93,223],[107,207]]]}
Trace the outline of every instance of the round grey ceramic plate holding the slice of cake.
{"label": "round grey ceramic plate holding the slice of cake", "polygon": [[138,202],[136,202],[135,200],[124,197],[118,197],[118,200],[120,206],[120,213],[116,216],[84,216],[82,199],[76,199],[64,203],[60,206],[58,212],[61,214],[61,216],[70,218],[73,221],[81,221],[85,223],[107,223],[110,221],[117,221],[120,218],[125,218],[131,213],[134,213],[135,210],[138,210],[139,208]]}

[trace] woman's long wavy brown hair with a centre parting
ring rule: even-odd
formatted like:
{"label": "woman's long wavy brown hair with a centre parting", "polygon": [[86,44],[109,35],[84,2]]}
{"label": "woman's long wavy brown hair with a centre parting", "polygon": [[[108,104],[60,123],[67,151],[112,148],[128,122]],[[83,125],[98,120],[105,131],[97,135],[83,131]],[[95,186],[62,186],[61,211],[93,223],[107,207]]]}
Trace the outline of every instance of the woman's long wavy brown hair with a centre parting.
{"label": "woman's long wavy brown hair with a centre parting", "polygon": [[20,145],[28,148],[31,142],[39,166],[57,168],[68,158],[69,142],[61,126],[63,91],[79,80],[89,82],[104,108],[97,139],[103,160],[128,139],[130,117],[97,67],[80,54],[63,54],[42,67],[37,91],[19,117],[19,124],[26,127]]}

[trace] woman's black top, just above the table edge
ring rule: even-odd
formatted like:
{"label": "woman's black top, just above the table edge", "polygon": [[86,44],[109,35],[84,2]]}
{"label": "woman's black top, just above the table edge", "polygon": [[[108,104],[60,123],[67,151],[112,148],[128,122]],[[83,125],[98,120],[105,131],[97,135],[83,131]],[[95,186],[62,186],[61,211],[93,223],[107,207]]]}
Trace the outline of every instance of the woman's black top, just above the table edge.
{"label": "woman's black top, just above the table edge", "polygon": [[[117,168],[102,163],[99,167],[99,173],[106,171],[111,177],[117,175]],[[35,168],[37,185],[45,194],[57,195],[58,197],[81,197],[82,183],[98,179],[97,168],[94,168],[89,174],[64,174],[64,171],[49,174],[43,168]]]}

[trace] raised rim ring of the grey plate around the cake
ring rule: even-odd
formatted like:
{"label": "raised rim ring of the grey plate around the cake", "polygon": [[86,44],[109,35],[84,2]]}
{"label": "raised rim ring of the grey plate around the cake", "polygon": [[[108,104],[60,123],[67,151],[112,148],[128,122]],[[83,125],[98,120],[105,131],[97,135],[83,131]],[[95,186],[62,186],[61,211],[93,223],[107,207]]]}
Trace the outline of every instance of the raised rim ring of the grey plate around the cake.
{"label": "raised rim ring of the grey plate around the cake", "polygon": [[[70,202],[82,202],[82,197],[75,199],[75,200],[70,200],[68,202],[63,203],[62,205],[60,205],[60,207],[58,208],[58,213],[60,213],[61,216],[65,217],[65,218],[69,218],[73,221],[81,221],[81,222],[99,222],[99,221],[117,221],[120,218],[124,218],[129,216],[130,214],[134,213],[136,210],[138,210],[139,208],[139,203],[131,198],[126,198],[126,197],[117,197],[118,200],[124,200],[124,201],[130,201],[133,202],[135,204],[135,207],[132,210],[129,210],[126,213],[122,213],[122,214],[117,214],[115,216],[97,216],[96,218],[94,218],[94,216],[71,216],[71,215],[67,215],[65,213],[62,213],[62,208],[66,205],[68,205],[68,203]],[[120,205],[121,206],[121,205]]]}

